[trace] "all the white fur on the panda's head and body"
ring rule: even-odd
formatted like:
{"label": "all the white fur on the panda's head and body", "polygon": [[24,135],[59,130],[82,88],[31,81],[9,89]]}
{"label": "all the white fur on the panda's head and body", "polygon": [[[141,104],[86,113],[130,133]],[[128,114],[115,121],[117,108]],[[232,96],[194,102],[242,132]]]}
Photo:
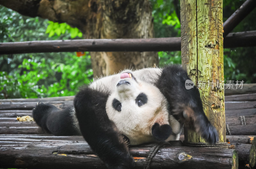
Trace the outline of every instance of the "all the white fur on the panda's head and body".
{"label": "all the white fur on the panda's head and body", "polygon": [[[130,84],[116,86],[121,80],[120,74],[124,72],[131,72],[136,81],[131,78],[125,78]],[[89,86],[110,94],[106,111],[109,119],[115,123],[117,129],[129,138],[132,145],[155,141],[151,130],[155,123],[160,125],[169,124],[172,127],[174,134],[166,141],[179,139],[180,123],[169,115],[166,98],[154,86],[154,83],[162,73],[162,69],[124,70],[121,73],[95,79]],[[147,95],[148,102],[139,107],[135,103],[135,99],[140,93]],[[112,107],[113,99],[117,99],[122,103],[121,112]]]}

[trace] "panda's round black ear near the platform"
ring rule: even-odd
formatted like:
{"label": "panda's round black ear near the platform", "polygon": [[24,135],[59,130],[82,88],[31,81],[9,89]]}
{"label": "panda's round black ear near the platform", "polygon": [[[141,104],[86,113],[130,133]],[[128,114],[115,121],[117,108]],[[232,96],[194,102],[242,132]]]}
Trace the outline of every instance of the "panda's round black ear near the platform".
{"label": "panda's round black ear near the platform", "polygon": [[152,127],[152,135],[157,141],[164,141],[172,134],[172,128],[169,124],[159,125],[155,123]]}

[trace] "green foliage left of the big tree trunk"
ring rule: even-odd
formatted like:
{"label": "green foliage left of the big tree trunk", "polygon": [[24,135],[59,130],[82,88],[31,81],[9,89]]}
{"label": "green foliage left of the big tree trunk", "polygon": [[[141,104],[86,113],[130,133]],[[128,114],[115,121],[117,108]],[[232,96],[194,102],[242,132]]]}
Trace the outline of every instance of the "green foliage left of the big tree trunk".
{"label": "green foliage left of the big tree trunk", "polygon": [[[79,34],[77,28],[56,24],[55,31],[58,26],[62,30],[60,36],[54,33],[49,37],[45,33],[48,20],[22,16],[3,6],[0,6],[0,15],[0,42],[70,39]],[[74,54],[1,55],[0,99],[75,95],[80,86],[91,81],[92,68],[88,53],[80,58]]]}

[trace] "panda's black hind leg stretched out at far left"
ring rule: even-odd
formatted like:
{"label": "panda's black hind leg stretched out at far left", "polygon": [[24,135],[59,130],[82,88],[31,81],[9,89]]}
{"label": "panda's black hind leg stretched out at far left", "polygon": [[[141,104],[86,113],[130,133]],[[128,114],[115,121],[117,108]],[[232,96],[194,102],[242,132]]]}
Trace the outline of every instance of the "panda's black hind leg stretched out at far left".
{"label": "panda's black hind leg stretched out at far left", "polygon": [[33,109],[33,117],[36,123],[48,133],[57,136],[80,135],[73,125],[70,112],[71,107],[60,110],[51,104],[40,102]]}

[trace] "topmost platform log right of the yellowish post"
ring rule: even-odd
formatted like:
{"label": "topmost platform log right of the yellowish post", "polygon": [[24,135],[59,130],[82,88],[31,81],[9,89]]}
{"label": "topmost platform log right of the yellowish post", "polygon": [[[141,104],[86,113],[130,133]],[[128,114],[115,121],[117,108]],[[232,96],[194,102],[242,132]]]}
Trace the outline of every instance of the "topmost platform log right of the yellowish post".
{"label": "topmost platform log right of the yellowish post", "polygon": [[225,95],[242,95],[242,94],[252,94],[256,93],[256,83],[251,84],[243,84],[243,88],[235,88],[235,84],[233,88],[227,88],[225,85]]}

